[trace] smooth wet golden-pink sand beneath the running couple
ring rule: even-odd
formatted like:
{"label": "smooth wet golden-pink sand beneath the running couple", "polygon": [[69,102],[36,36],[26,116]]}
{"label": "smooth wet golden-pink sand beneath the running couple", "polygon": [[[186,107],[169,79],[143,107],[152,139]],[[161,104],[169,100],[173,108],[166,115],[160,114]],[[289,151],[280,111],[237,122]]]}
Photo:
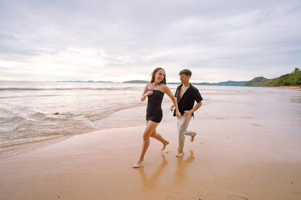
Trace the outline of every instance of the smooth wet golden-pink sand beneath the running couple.
{"label": "smooth wet golden-pink sand beneath the running couple", "polygon": [[[198,111],[199,113],[201,111]],[[175,124],[151,138],[140,168],[144,126],[75,135],[0,160],[0,199],[300,199],[300,125],[249,117],[192,119],[176,158]],[[285,133],[285,134],[284,134]]]}

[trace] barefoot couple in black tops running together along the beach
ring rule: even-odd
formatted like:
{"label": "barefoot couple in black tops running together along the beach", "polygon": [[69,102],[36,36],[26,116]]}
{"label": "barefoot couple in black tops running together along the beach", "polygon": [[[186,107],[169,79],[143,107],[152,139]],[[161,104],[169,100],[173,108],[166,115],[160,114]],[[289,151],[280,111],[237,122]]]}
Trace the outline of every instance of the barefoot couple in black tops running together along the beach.
{"label": "barefoot couple in black tops running together along the beach", "polygon": [[[196,132],[187,129],[191,117],[194,117],[193,112],[199,109],[202,105],[203,98],[197,88],[189,83],[191,77],[191,71],[189,69],[183,69],[179,72],[181,85],[178,86],[175,96],[172,95],[169,87],[166,86],[165,70],[163,68],[156,68],[151,74],[151,83],[148,83],[141,96],[143,102],[146,97],[148,98],[146,109],[146,128],[143,133],[143,142],[141,155],[137,162],[133,165],[133,168],[140,167],[144,160],[144,155],[150,144],[150,137],[155,138],[163,143],[163,151],[168,141],[166,141],[159,133],[156,133],[156,127],[162,120],[163,114],[161,109],[161,103],[163,96],[166,93],[172,100],[173,105],[170,107],[172,111],[175,107],[173,116],[177,116],[177,129],[179,137],[178,153],[176,157],[183,156],[183,147],[185,142],[185,135],[191,136],[190,141],[194,140]],[[194,101],[197,104],[194,106]]]}

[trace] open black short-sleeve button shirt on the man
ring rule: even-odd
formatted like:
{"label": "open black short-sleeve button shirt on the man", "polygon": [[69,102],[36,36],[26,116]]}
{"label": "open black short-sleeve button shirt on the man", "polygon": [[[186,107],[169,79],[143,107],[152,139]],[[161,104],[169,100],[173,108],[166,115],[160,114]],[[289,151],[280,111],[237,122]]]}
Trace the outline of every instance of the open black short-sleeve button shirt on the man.
{"label": "open black short-sleeve button shirt on the man", "polygon": [[[186,90],[186,92],[183,94],[182,98],[179,98],[179,91],[183,84],[179,85],[177,90],[175,91],[175,97],[177,98],[178,102],[178,108],[179,111],[182,114],[184,114],[184,111],[190,111],[194,107],[194,101],[199,103],[203,100],[199,90],[192,86],[191,83],[189,83],[190,86]],[[175,111],[173,112],[173,116],[175,116]],[[192,117],[194,117],[194,114],[192,113]]]}

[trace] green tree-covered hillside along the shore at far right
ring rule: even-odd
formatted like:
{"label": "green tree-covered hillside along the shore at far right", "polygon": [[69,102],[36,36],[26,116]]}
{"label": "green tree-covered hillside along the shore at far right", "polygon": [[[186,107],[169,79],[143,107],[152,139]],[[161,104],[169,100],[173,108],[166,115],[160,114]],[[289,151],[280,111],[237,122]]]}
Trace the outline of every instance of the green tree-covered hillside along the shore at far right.
{"label": "green tree-covered hillside along the shore at far right", "polygon": [[278,78],[267,79],[265,77],[255,77],[247,81],[244,86],[253,87],[277,87],[277,86],[300,86],[301,85],[301,71],[295,68],[290,74],[284,74]]}

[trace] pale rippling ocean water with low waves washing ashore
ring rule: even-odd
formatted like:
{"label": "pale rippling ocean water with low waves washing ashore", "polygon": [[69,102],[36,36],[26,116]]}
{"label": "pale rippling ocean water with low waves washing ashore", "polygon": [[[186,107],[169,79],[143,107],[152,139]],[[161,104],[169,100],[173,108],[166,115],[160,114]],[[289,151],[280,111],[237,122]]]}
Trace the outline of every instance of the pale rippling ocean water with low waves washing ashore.
{"label": "pale rippling ocean water with low waves washing ashore", "polygon": [[[0,81],[0,158],[45,147],[77,134],[145,125],[146,84]],[[178,85],[168,85],[172,93]],[[264,119],[301,124],[301,92],[239,86],[197,87],[197,120]],[[164,95],[161,123],[175,124]],[[214,127],[213,127],[214,128]],[[142,135],[142,133],[141,133]]]}

